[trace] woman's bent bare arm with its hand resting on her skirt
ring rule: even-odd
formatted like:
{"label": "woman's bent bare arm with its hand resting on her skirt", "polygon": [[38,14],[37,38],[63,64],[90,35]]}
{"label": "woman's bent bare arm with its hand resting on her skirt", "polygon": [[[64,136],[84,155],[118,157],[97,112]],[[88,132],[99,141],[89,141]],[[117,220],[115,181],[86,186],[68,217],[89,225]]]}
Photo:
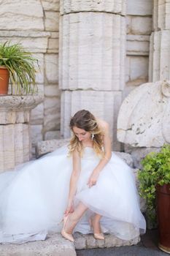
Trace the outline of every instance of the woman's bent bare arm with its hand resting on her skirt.
{"label": "woman's bent bare arm with its hand resting on her skirt", "polygon": [[107,165],[109,159],[112,157],[112,148],[111,148],[111,140],[109,136],[109,124],[107,122],[102,123],[102,128],[104,129],[104,158],[98,163],[96,168],[93,170],[92,175],[89,178],[88,185],[92,187],[96,184],[99,173]]}

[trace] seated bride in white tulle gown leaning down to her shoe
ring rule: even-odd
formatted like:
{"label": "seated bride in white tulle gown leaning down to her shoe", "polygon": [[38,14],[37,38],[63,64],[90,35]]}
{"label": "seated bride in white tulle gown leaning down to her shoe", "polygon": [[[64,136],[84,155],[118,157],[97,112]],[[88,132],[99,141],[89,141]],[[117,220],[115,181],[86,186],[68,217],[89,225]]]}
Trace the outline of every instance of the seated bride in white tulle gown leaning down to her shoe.
{"label": "seated bride in white tulle gown leaning down to her shoe", "polygon": [[76,231],[102,240],[145,232],[134,175],[111,152],[107,122],[80,110],[70,129],[69,149],[0,175],[0,243],[43,240],[50,230],[70,241]]}

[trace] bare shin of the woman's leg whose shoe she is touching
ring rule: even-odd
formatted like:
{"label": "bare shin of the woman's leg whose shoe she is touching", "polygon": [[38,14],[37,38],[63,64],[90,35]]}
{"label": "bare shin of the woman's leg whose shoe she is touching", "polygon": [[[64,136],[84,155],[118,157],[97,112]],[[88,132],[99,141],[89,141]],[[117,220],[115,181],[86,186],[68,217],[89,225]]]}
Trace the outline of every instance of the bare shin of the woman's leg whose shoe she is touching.
{"label": "bare shin of the woman's leg whose shoe she is touching", "polygon": [[82,217],[82,214],[84,214],[85,211],[88,210],[88,207],[85,206],[83,203],[79,203],[77,208],[74,209],[72,214],[69,214],[68,220],[66,222],[65,231],[68,234],[72,234],[74,227],[77,225],[77,222],[79,222],[80,218]]}

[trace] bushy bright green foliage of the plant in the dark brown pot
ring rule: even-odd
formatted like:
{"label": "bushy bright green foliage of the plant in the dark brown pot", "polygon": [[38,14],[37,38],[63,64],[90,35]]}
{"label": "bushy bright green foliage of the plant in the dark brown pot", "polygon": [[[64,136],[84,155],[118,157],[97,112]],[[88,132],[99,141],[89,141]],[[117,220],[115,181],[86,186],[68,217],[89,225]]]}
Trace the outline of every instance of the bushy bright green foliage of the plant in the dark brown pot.
{"label": "bushy bright green foliage of the plant in the dark brown pot", "polygon": [[152,225],[156,222],[156,185],[170,184],[170,145],[165,144],[158,153],[151,152],[142,159],[139,171],[139,193],[147,203],[147,218]]}

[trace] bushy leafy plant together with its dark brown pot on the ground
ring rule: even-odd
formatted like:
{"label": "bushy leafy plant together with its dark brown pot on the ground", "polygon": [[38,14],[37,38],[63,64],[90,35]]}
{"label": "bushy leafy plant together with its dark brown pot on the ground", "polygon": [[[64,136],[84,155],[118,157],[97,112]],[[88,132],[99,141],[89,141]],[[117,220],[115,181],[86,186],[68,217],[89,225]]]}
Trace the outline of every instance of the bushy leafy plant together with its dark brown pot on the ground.
{"label": "bushy leafy plant together with its dark brown pot on the ground", "polygon": [[147,219],[158,222],[159,248],[170,253],[170,145],[142,159],[139,171],[140,195],[147,203]]}

